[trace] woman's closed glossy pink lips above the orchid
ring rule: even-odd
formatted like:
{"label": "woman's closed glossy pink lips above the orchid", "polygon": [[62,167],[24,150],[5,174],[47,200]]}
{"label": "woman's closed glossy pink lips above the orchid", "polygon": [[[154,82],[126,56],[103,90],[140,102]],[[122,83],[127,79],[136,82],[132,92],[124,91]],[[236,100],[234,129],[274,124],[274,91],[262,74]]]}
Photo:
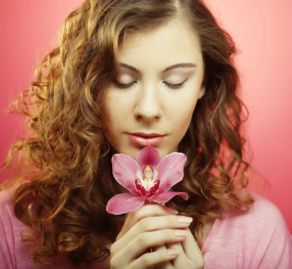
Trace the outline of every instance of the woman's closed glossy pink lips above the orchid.
{"label": "woman's closed glossy pink lips above the orchid", "polygon": [[164,140],[165,135],[151,133],[127,133],[128,138],[138,146],[156,146]]}

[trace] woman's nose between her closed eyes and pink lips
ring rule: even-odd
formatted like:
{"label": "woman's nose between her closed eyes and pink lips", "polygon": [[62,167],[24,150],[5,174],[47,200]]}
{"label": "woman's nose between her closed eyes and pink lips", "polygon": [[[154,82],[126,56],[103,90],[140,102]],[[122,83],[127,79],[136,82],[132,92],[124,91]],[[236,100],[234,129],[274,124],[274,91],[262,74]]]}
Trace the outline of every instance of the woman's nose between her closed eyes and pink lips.
{"label": "woman's nose between her closed eyes and pink lips", "polygon": [[150,122],[161,118],[162,115],[162,98],[159,90],[153,86],[141,89],[141,93],[137,97],[134,116]]}

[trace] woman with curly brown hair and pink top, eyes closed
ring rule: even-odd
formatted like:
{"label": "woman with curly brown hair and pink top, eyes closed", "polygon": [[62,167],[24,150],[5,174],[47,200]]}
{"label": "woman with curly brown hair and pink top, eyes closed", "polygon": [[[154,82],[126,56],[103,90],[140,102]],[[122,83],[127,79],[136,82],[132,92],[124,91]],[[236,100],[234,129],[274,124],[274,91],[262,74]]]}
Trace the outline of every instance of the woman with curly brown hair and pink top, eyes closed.
{"label": "woman with curly brown hair and pink top, eyes closed", "polygon": [[[243,192],[236,47],[204,3],[86,0],[61,34],[31,85],[36,109],[23,111],[34,135],[5,163],[19,151],[28,168],[1,193],[4,269],[291,268],[279,210]],[[112,155],[147,145],[187,156],[171,190],[188,200],[108,214],[127,192]]]}

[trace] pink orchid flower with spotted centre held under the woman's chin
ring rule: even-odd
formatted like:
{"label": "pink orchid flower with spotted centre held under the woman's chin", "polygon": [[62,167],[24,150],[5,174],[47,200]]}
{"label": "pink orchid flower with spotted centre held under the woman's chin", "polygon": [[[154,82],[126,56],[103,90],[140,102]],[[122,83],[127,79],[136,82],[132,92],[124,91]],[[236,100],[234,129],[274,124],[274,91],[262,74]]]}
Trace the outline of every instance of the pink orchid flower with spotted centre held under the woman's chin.
{"label": "pink orchid flower with spotted centre held under the woman's chin", "polygon": [[153,203],[166,203],[179,195],[187,200],[183,192],[167,192],[183,179],[183,166],[186,156],[173,152],[161,159],[153,146],[143,148],[136,161],[125,154],[112,156],[114,178],[132,194],[123,193],[112,197],[107,204],[107,212],[120,215],[134,211],[144,205],[145,200]]}

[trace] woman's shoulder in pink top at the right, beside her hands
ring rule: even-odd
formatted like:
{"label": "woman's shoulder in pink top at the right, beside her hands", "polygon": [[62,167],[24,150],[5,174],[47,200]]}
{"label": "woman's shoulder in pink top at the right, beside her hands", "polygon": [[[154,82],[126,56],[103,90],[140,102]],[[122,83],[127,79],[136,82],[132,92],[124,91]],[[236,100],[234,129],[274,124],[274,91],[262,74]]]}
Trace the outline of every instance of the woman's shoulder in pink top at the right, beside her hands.
{"label": "woman's shoulder in pink top at the right, beside her hands", "polygon": [[280,210],[268,199],[252,196],[255,203],[248,211],[233,208],[216,220],[208,263],[228,260],[228,268],[237,269],[292,268],[292,238]]}

